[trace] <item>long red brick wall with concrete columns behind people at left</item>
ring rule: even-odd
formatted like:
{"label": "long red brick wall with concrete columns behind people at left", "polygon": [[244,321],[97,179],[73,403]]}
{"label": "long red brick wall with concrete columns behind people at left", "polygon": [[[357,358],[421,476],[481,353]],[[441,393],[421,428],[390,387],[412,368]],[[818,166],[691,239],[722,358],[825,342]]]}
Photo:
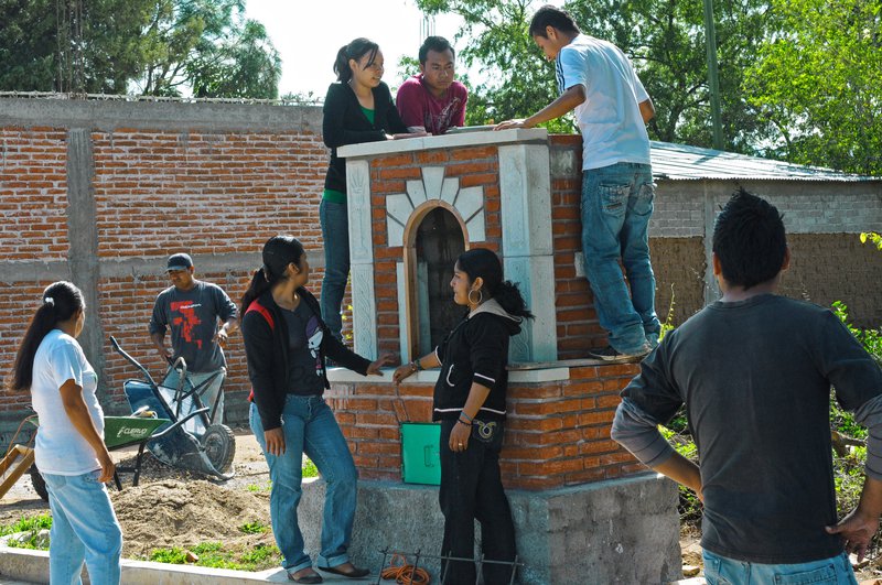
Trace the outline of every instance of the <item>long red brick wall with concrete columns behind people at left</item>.
{"label": "long red brick wall with concrete columns behind people at left", "polygon": [[[262,242],[290,234],[308,249],[310,288],[319,294],[327,165],[320,128],[321,111],[310,107],[0,100],[4,369],[55,280],[87,293],[90,321],[80,343],[101,371],[110,411],[126,410],[122,381],[139,376],[112,351],[110,335],[154,377],[164,371],[147,324],[169,285],[168,254],[191,253],[196,277],[238,302]],[[85,148],[75,136],[85,137]],[[86,181],[74,184],[74,173]],[[241,423],[249,384],[240,335],[230,338],[227,358],[229,414]],[[0,389],[0,444],[29,402]]]}

